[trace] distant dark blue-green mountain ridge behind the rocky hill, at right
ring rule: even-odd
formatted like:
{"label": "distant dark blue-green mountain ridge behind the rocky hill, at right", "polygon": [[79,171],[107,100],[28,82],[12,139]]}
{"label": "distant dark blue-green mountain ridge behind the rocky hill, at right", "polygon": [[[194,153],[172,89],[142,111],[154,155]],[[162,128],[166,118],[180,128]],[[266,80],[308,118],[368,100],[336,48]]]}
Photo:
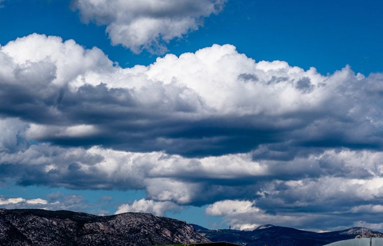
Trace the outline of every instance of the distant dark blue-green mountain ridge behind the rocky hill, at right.
{"label": "distant dark blue-green mountain ridge behind the rocky hill, at right", "polygon": [[[309,232],[273,225],[260,226],[253,231],[208,230],[195,226],[197,232],[213,242],[227,241],[247,246],[320,246],[340,240],[362,237],[362,228],[354,227],[343,231]],[[383,233],[363,228],[364,237],[383,237]]]}

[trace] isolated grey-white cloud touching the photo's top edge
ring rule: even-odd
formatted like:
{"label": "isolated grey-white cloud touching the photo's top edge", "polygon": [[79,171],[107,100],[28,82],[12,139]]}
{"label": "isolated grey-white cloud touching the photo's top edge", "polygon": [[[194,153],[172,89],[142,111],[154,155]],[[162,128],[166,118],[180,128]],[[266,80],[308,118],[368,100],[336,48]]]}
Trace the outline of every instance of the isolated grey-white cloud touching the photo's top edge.
{"label": "isolated grey-white cloud touching the photo's top edge", "polygon": [[85,23],[106,25],[113,45],[122,44],[133,53],[148,50],[163,54],[166,43],[203,25],[203,19],[218,14],[226,0],[75,0]]}

